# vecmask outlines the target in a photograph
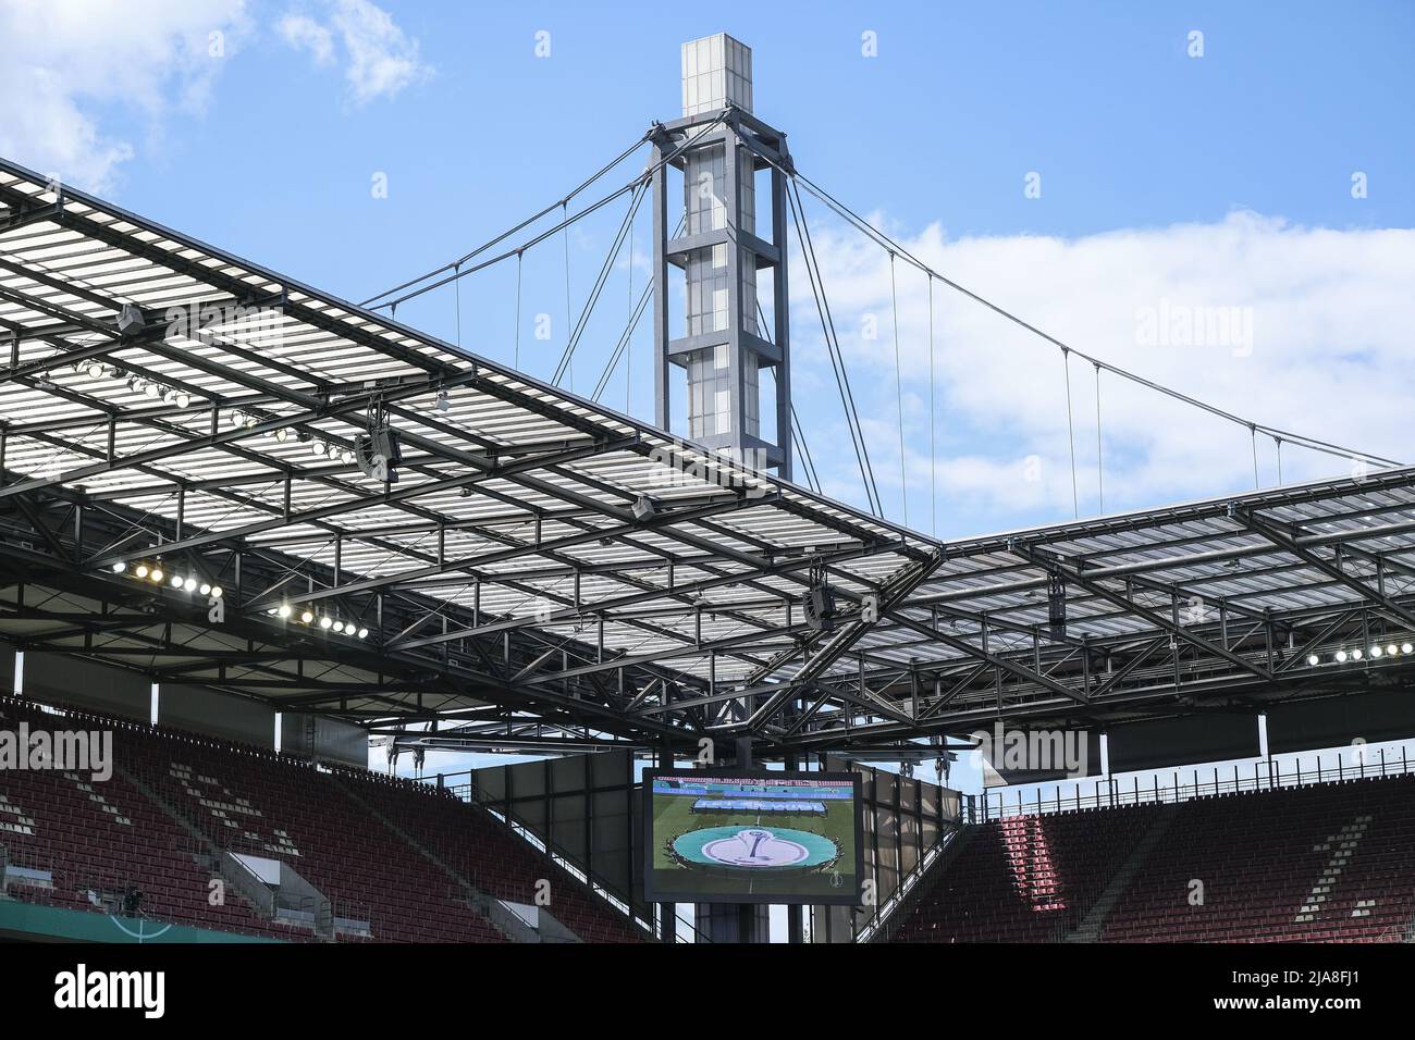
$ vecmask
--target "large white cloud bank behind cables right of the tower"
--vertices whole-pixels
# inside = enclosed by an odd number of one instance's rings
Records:
[[[874,224],[879,226],[879,219]],[[900,518],[889,258],[843,225],[812,221],[887,512]],[[894,233],[891,231],[891,233]],[[896,235],[899,238],[899,235]],[[949,241],[934,225],[903,245],[935,270],[1077,349],[1259,423],[1415,461],[1407,430],[1415,368],[1415,231],[1303,228],[1251,212],[1203,225],[1080,239]],[[896,262],[910,521],[928,529],[928,296]],[[799,259],[792,267],[794,396],[819,440],[841,408]],[[866,335],[873,316],[877,338]],[[1186,328],[1187,318],[1197,324]],[[1203,345],[1203,320],[1235,317]],[[1249,325],[1251,323],[1251,331]],[[1162,330],[1156,335],[1156,328]],[[1213,331],[1225,331],[1218,325]],[[1187,337],[1187,338],[1186,338]],[[1071,463],[1060,351],[934,286],[940,531],[1068,518]],[[1098,511],[1095,372],[1070,365],[1081,515]],[[1248,432],[1102,375],[1105,511],[1252,488]],[[848,449],[843,439],[839,443]],[[816,449],[828,490],[859,501],[849,451]],[[1258,440],[1259,480],[1276,451]],[[1285,483],[1350,463],[1283,447]],[[975,522],[976,521],[976,522]]]

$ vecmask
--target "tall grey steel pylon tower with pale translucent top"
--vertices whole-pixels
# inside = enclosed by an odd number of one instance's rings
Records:
[[[674,369],[686,369],[686,436],[791,478],[785,134],[751,115],[751,50],[724,33],[682,47],[683,115],[655,127],[654,392],[672,432]],[[715,122],[716,120],[716,122]],[[705,129],[708,127],[708,129]],[[778,164],[774,166],[773,163]],[[682,209],[669,181],[682,171]],[[757,233],[757,174],[770,170],[770,239]],[[671,208],[672,202],[672,208]],[[758,321],[758,272],[771,272],[773,328]],[[669,317],[675,282],[683,314]],[[761,369],[775,383],[763,430]],[[768,439],[770,437],[770,439]]]

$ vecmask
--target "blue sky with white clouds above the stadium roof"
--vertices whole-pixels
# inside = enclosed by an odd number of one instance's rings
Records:
[[[18,55],[0,69],[18,113],[0,126],[0,154],[359,300],[481,243],[675,117],[678,45],[716,31],[753,48],[756,110],[790,133],[801,170],[937,269],[1245,417],[1411,461],[1408,3],[0,0],[0,37]],[[866,33],[877,57],[862,54]],[[1029,174],[1040,198],[1024,194]],[[379,177],[386,197],[371,191]],[[906,491],[910,521],[928,531],[937,515],[944,536],[1099,512],[1094,374],[1071,372],[1073,505],[1056,349],[944,290],[930,345],[913,275],[900,282],[900,478],[887,262],[808,212],[889,515],[903,518]],[[528,371],[548,376],[563,347],[562,249],[577,310],[621,215],[611,207],[528,255]],[[642,286],[644,218],[634,269],[617,267],[596,310],[577,389]],[[511,359],[514,294],[507,266],[464,283],[464,345]],[[1139,316],[1160,306],[1235,308],[1251,340],[1143,342]],[[529,338],[538,313],[553,318],[549,342]],[[456,335],[446,290],[399,317]],[[870,317],[877,341],[860,331]],[[862,504],[804,287],[792,323],[816,464],[828,492]],[[640,378],[625,398],[621,369],[607,398],[641,417],[645,334]],[[1105,511],[1252,485],[1244,432],[1118,382],[1102,405]],[[1259,449],[1272,484],[1274,447]],[[1290,449],[1283,463],[1289,483],[1348,471]]]

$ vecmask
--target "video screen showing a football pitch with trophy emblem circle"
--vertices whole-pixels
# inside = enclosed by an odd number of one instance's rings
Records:
[[[859,903],[856,774],[665,770],[644,792],[649,901]]]

